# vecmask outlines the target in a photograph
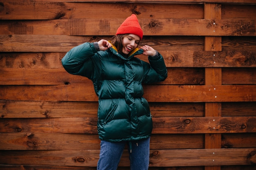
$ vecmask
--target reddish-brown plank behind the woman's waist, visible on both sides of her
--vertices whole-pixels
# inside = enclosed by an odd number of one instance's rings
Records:
[[[0,100],[98,101],[92,82],[0,87]],[[255,102],[256,88],[255,85],[144,85],[144,97],[148,102]]]

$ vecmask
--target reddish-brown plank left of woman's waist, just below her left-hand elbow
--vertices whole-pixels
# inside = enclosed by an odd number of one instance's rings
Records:
[[[1,86],[0,99],[34,101],[98,101],[98,97],[94,92],[93,84],[90,81],[85,82],[84,85],[74,86]]]

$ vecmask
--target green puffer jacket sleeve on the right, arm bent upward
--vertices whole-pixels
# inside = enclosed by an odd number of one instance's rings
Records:
[[[144,84],[153,82],[162,82],[167,77],[167,69],[164,63],[163,56],[157,52],[156,57],[148,56],[150,64],[144,64]]]

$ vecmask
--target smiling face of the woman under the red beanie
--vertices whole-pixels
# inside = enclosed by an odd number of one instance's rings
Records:
[[[122,40],[122,43],[123,43],[122,53],[129,54],[130,51],[132,51],[138,46],[139,36],[134,34],[125,35]]]

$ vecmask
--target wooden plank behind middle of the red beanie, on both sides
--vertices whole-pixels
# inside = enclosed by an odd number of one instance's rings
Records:
[[[0,33],[6,35],[115,35],[123,21],[123,18],[100,20],[85,18],[1,22]],[[256,36],[256,20],[141,18],[139,22],[144,35]],[[92,26],[94,29],[91,29]]]

